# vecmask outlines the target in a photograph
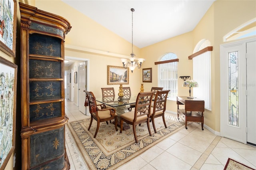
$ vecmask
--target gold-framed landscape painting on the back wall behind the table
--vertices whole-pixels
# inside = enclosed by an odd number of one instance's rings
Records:
[[[129,84],[129,68],[108,65],[108,85]]]

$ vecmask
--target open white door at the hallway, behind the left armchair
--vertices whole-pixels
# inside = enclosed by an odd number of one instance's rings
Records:
[[[86,93],[86,61],[79,64],[78,70],[78,107],[79,110],[86,115],[86,107],[84,106]]]

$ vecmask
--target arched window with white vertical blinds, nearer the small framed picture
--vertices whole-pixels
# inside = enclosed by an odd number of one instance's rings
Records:
[[[158,86],[164,87],[163,90],[170,90],[168,94],[169,100],[176,100],[176,96],[178,95],[177,55],[174,53],[167,53],[162,56],[157,63],[159,64]]]

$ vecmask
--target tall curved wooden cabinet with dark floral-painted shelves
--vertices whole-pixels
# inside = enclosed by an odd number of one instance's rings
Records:
[[[22,170],[70,169],[65,148],[65,18],[19,3]]]

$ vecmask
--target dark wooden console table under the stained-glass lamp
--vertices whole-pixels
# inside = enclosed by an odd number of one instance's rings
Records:
[[[198,98],[187,98],[187,96],[177,96],[177,113],[185,120],[185,127],[187,122],[200,122],[202,130],[204,130],[204,100]],[[179,109],[179,105],[184,105],[185,109]]]

